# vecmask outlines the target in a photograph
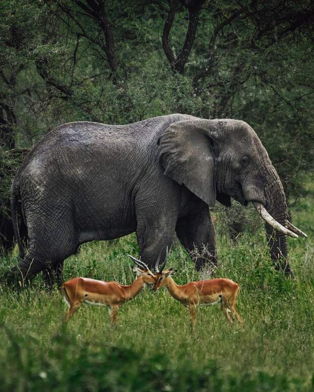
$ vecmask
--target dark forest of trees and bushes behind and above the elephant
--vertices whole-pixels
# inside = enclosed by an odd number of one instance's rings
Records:
[[[12,178],[28,149],[65,122],[128,124],[175,112],[244,120],[289,203],[306,194],[312,1],[10,0],[0,10],[3,246]]]

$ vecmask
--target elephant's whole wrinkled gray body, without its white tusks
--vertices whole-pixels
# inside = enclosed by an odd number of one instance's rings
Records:
[[[263,204],[285,224],[283,186],[253,129],[243,121],[172,114],[124,126],[77,122],[49,132],[23,162],[12,188],[20,199],[29,249],[6,279],[43,271],[61,282],[63,260],[82,243],[136,231],[141,260],[152,267],[174,233],[198,269],[216,264],[209,207],[230,197]],[[16,228],[15,228],[16,229]],[[282,233],[267,229],[274,261],[287,256]],[[281,267],[290,272],[285,258]],[[276,263],[277,267],[279,263]]]

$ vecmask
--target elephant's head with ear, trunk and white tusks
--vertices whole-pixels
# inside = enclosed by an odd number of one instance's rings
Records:
[[[216,200],[230,206],[230,197],[245,206],[252,202],[267,222],[273,260],[287,257],[285,235],[304,234],[287,221],[280,178],[247,123],[197,118],[180,121],[161,136],[160,148],[165,174],[183,183],[209,207],[214,207]]]

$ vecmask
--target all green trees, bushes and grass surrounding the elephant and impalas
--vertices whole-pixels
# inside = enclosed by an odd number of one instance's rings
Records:
[[[314,6],[310,0],[10,0],[0,4],[0,240],[10,231],[10,184],[28,148],[55,126],[127,124],[174,112],[248,122],[265,145],[307,242],[290,241],[296,280],[271,267],[250,209],[217,208],[221,267],[241,285],[245,330],[203,308],[194,337],[186,309],[144,290],[112,330],[85,307],[67,329],[41,277],[1,288],[0,381],[6,390],[314,390]],[[227,227],[245,232],[236,244]],[[228,223],[228,225],[226,225]],[[241,229],[242,227],[240,227]],[[65,264],[131,282],[135,238],[85,245]],[[4,252],[5,254],[7,252]],[[1,271],[17,255],[1,258]],[[178,282],[198,279],[176,244]],[[208,271],[203,271],[207,276]]]

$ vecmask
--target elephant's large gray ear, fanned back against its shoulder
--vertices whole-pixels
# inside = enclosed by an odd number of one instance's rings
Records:
[[[180,121],[166,129],[159,144],[164,174],[214,207],[215,162],[208,132],[202,132],[193,121]]]

